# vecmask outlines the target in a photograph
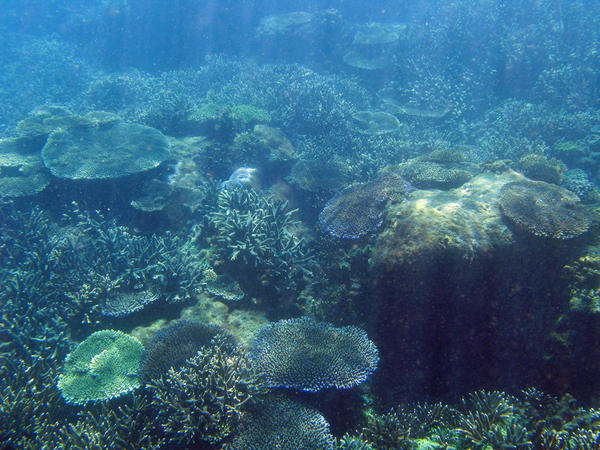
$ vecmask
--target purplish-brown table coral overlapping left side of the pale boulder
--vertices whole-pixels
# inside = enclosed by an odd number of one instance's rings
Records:
[[[405,196],[412,186],[391,172],[374,181],[347,187],[335,194],[319,214],[327,233],[343,239],[357,239],[383,224],[383,210],[392,196]]]

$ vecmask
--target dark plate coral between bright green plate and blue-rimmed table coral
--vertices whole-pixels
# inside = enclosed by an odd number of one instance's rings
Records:
[[[218,342],[217,342],[218,341]],[[224,350],[235,348],[235,339],[217,325],[178,320],[156,333],[146,345],[140,377],[147,382],[166,375],[171,367],[183,366],[202,347],[212,344]]]

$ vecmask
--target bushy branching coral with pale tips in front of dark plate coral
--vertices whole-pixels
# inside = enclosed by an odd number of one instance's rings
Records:
[[[156,421],[172,442],[216,444],[237,431],[244,412],[266,388],[239,351],[202,347],[147,388]]]

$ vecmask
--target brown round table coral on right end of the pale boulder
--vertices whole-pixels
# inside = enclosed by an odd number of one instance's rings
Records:
[[[543,181],[508,183],[499,201],[502,213],[517,229],[541,238],[571,239],[592,223],[577,195]]]

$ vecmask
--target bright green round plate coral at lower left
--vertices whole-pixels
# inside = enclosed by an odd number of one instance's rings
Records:
[[[90,335],[67,355],[58,389],[67,403],[81,405],[119,397],[140,386],[144,346],[121,331]]]

